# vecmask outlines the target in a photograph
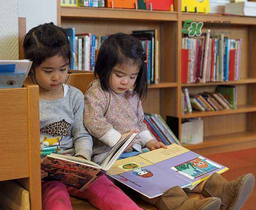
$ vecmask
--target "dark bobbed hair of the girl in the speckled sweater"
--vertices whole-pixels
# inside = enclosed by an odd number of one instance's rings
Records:
[[[133,94],[144,98],[147,95],[146,60],[147,56],[139,39],[125,33],[115,33],[108,36],[102,43],[94,74],[98,75],[102,90],[110,92],[108,81],[115,65],[138,65],[140,69]]]

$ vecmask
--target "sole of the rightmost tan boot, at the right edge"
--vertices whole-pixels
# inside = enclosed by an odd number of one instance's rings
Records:
[[[255,178],[253,174],[244,177],[241,186],[235,194],[235,199],[228,210],[239,210],[253,191]],[[240,196],[239,196],[240,195]]]

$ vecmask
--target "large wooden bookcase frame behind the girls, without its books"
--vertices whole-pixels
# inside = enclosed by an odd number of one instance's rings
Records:
[[[159,84],[149,85],[148,95],[146,100],[142,101],[142,106],[145,112],[161,114],[163,118],[167,115],[178,117],[179,139],[182,119],[202,117],[203,144],[184,145],[185,147],[201,154],[256,147],[256,66],[253,63],[256,55],[256,17],[182,13],[180,0],[174,0],[174,12],[64,7],[59,3],[57,8],[58,24],[64,28],[75,27],[76,33],[90,32],[104,36],[116,32],[131,33],[133,30],[158,30]],[[211,21],[212,31],[229,31],[229,38],[243,39],[240,74],[242,79],[228,82],[181,83],[181,30],[186,19],[196,19],[204,23]],[[214,28],[213,21],[231,21],[231,27]],[[187,87],[189,93],[197,94],[213,92],[216,85],[222,84],[237,86],[238,109],[182,115],[183,88]]]

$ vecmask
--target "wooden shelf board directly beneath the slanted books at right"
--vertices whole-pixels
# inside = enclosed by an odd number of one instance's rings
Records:
[[[217,115],[238,114],[238,113],[246,113],[246,112],[256,112],[256,106],[243,105],[243,106],[238,106],[237,109],[212,111],[212,112],[211,111],[207,111],[207,112],[193,111],[192,113],[182,115],[182,118],[211,117],[211,116],[217,116]]]

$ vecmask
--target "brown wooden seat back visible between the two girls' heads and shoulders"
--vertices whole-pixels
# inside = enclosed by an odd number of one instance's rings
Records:
[[[88,85],[95,79],[93,73],[70,74],[67,80],[68,85],[78,88],[85,93]]]

